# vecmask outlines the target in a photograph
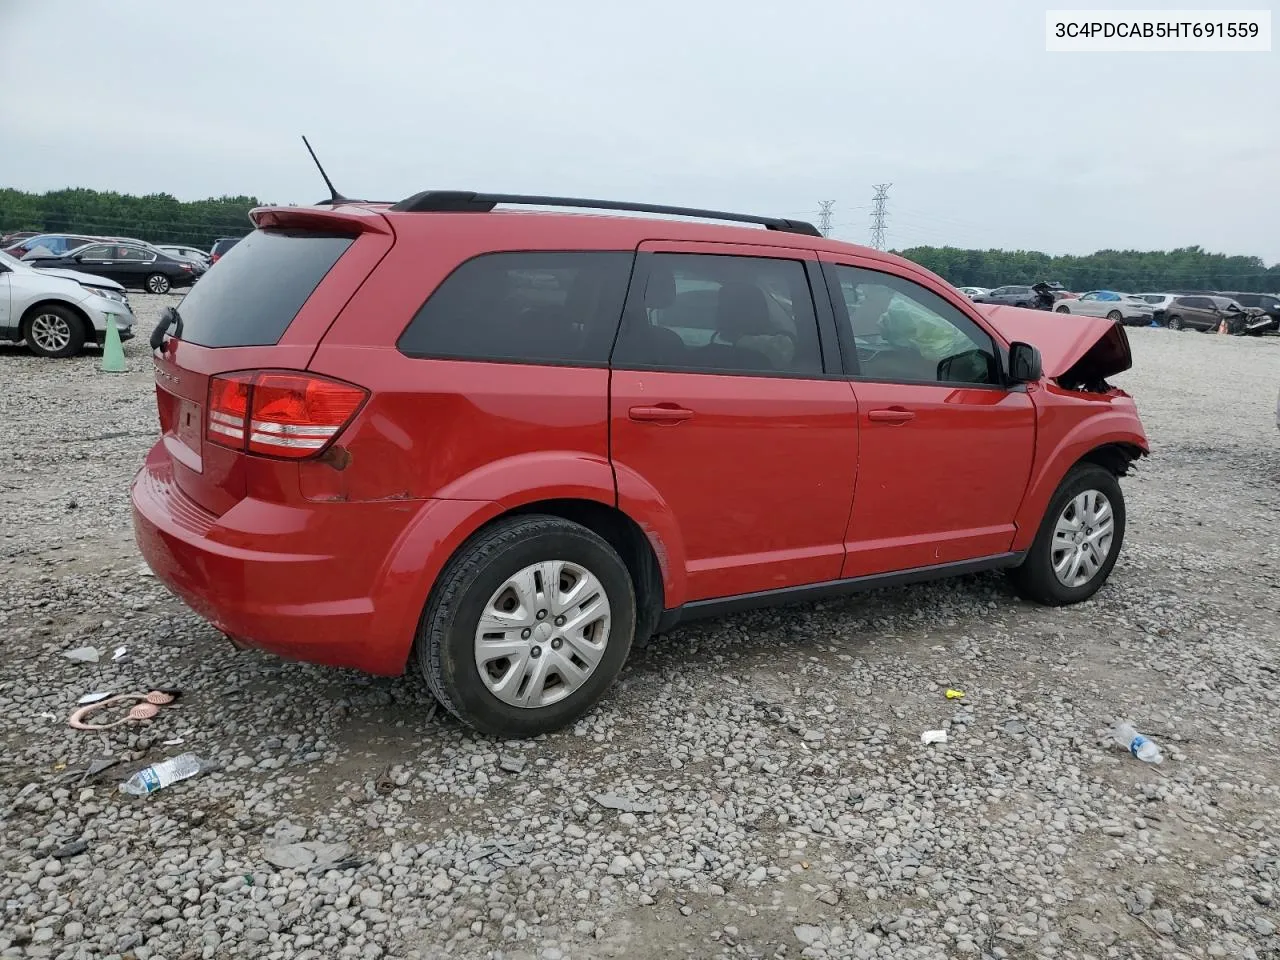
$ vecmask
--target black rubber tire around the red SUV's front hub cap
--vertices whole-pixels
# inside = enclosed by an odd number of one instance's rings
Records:
[[[1053,572],[1053,531],[1068,504],[1087,490],[1101,493],[1111,504],[1115,525],[1111,549],[1087,582],[1079,586],[1068,586]],[[1115,474],[1097,463],[1078,463],[1062,479],[1057,493],[1053,494],[1053,499],[1050,500],[1048,508],[1044,511],[1044,518],[1041,521],[1036,541],[1028,550],[1027,558],[1021,566],[1009,571],[1009,579],[1024,599],[1046,607],[1062,607],[1087,600],[1111,576],[1111,570],[1116,564],[1121,547],[1124,547],[1124,493],[1120,490],[1120,481],[1116,480]]]

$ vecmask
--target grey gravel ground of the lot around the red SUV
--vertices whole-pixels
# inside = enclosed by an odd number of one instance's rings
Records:
[[[145,573],[164,302],[125,375],[0,347],[0,956],[1280,955],[1280,339],[1130,332],[1153,456],[1093,602],[979,576],[712,621],[503,744],[416,678],[237,653]],[[67,726],[157,685],[150,723]],[[188,749],[221,768],[116,792]],[[300,840],[349,854],[269,861]]]

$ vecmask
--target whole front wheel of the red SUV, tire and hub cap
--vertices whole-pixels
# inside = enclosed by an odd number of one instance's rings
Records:
[[[1080,463],[1062,480],[1014,588],[1028,600],[1061,607],[1087,600],[1107,581],[1124,543],[1120,481],[1096,463]]]

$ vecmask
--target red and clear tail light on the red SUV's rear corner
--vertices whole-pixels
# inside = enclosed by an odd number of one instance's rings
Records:
[[[205,434],[220,447],[303,460],[333,443],[367,397],[364,388],[311,374],[215,376]]]

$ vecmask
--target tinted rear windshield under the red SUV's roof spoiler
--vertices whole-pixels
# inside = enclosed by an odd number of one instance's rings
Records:
[[[200,278],[182,301],[182,339],[201,347],[268,347],[355,237],[256,230]]]

